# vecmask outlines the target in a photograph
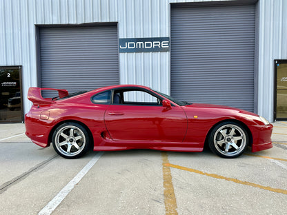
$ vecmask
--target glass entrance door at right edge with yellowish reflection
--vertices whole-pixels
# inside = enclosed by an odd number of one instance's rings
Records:
[[[275,119],[287,120],[287,60],[275,61]]]

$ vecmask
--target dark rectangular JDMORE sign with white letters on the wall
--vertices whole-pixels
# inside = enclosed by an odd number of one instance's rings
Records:
[[[168,52],[169,37],[119,39],[119,52]]]

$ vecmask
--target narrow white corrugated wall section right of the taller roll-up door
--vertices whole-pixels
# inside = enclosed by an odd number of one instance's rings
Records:
[[[259,1],[258,114],[273,121],[274,60],[287,59],[287,1]]]

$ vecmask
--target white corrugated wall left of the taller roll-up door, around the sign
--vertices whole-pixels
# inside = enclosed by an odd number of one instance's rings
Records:
[[[23,65],[24,112],[37,86],[35,25],[118,22],[119,38],[169,37],[165,0],[0,0],[0,65]],[[119,54],[120,83],[170,91],[170,53]]]

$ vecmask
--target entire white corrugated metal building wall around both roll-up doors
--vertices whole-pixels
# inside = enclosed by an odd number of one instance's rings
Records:
[[[174,0],[1,0],[0,65],[23,65],[23,95],[37,86],[36,27],[117,22],[119,38],[170,37]],[[287,1],[259,0],[258,113],[273,120],[273,60],[287,59]],[[170,93],[170,52],[119,53],[120,83]],[[244,101],[242,101],[244,102]],[[24,100],[24,112],[31,103]]]

